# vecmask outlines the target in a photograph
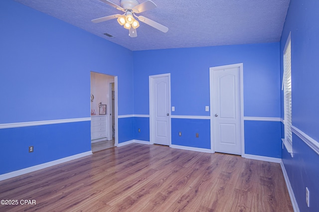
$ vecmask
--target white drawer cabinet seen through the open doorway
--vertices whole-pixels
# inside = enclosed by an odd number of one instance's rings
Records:
[[[91,140],[107,138],[107,129],[106,115],[91,116]]]

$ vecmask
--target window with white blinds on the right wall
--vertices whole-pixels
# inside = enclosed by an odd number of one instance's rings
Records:
[[[285,145],[292,145],[292,112],[291,112],[291,37],[289,34],[285,49],[284,49],[284,76],[283,76],[283,89],[284,89],[284,112],[285,112]],[[287,146],[286,146],[287,147]],[[287,148],[287,150],[289,150]],[[292,149],[291,149],[292,150]]]

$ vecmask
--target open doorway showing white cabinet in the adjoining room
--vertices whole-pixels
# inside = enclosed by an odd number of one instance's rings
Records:
[[[115,147],[116,77],[91,72],[91,150]]]

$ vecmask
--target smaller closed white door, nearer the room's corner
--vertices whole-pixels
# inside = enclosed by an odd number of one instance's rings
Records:
[[[150,76],[151,144],[170,145],[169,74]]]

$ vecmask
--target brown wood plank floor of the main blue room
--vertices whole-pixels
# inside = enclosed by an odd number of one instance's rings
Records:
[[[280,164],[129,144],[0,181],[0,212],[292,212]]]

